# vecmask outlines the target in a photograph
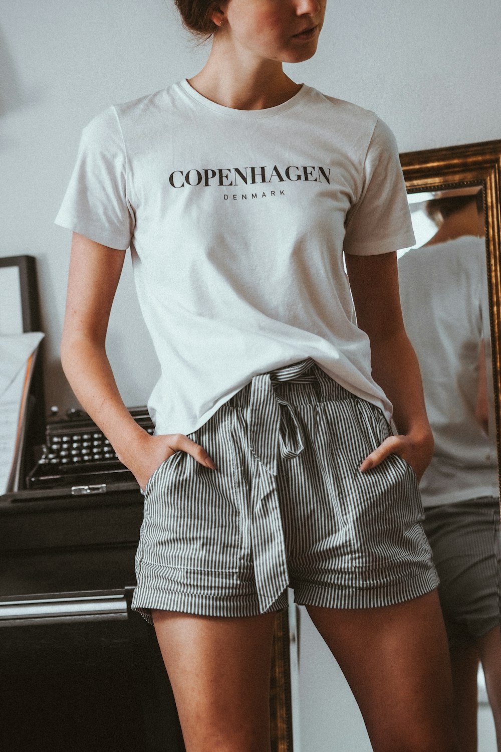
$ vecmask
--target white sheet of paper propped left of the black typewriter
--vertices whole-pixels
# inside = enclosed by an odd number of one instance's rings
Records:
[[[0,494],[8,490],[20,437],[29,357],[43,338],[41,332],[0,337]]]

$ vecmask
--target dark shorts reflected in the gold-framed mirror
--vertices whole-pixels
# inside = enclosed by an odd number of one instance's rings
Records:
[[[427,507],[424,514],[449,644],[471,643],[499,626],[499,499]]]

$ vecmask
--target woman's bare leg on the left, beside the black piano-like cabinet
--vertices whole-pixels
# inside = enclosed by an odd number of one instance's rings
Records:
[[[152,617],[186,752],[269,752],[275,614]]]

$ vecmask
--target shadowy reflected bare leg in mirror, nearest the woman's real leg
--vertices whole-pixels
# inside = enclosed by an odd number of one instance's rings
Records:
[[[478,747],[478,660],[475,645],[451,648],[454,727],[461,752],[477,752]]]

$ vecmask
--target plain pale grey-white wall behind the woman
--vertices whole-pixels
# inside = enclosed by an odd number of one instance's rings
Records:
[[[317,56],[289,73],[376,110],[402,151],[501,138],[499,29],[499,0],[331,0]],[[53,218],[80,130],[112,102],[194,74],[204,56],[171,0],[0,0],[0,255],[38,257],[49,405],[75,404],[59,364],[70,238]],[[128,266],[109,344],[125,402],[146,402],[157,365]],[[364,752],[358,711],[306,625],[303,752]],[[337,746],[334,715],[336,733],[355,724]]]

